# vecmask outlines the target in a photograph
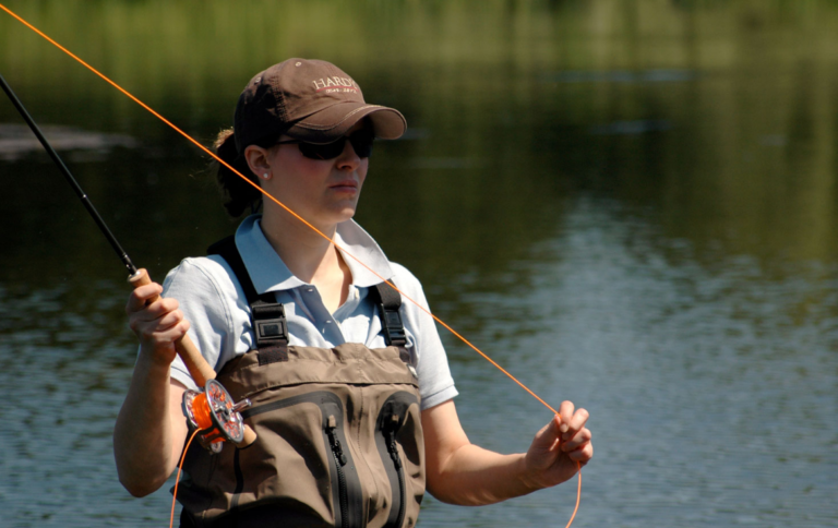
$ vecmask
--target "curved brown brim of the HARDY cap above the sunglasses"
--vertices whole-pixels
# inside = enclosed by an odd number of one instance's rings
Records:
[[[396,140],[407,130],[405,117],[394,108],[338,103],[297,121],[286,134],[307,143],[332,143],[367,117],[372,121],[375,137],[382,140]]]

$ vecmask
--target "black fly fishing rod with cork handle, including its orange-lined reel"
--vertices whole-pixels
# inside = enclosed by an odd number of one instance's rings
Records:
[[[9,86],[9,83],[5,82],[2,74],[0,74],[0,87],[3,88],[3,92],[5,92],[5,95],[9,96],[12,105],[14,105],[14,108],[21,117],[23,117],[24,121],[26,121],[26,124],[29,125],[29,129],[32,129],[40,144],[44,145],[49,157],[52,158],[61,170],[64,179],[70,183],[70,187],[73,188],[73,191],[82,201],[82,204],[84,204],[87,213],[89,213],[91,217],[93,217],[93,220],[96,223],[96,226],[98,226],[101,233],[108,240],[108,243],[110,243],[110,247],[116,251],[117,256],[119,256],[119,260],[129,272],[128,281],[131,286],[136,289],[141,286],[152,284],[148,272],[142,268],[137,269],[131,261],[131,257],[128,256],[125,250],[122,249],[122,245],[120,245],[107,224],[105,224],[101,215],[96,211],[93,202],[87,197],[87,194],[73,177],[73,173],[70,172],[70,169],[67,168],[61,156],[59,156],[56,149],[52,148],[52,145],[49,144],[49,141],[47,141],[47,137],[40,131],[38,124],[32,118],[29,112],[26,111],[23,103],[17,98],[17,95],[12,87]],[[146,304],[151,304],[157,299],[159,299],[159,296],[154,296],[146,301]],[[189,389],[183,393],[183,413],[192,429],[206,431],[201,435],[204,445],[213,453],[218,453],[222,449],[222,443],[225,441],[235,444],[237,447],[246,447],[252,444],[253,441],[256,440],[256,434],[249,425],[244,424],[243,419],[239,413],[239,410],[250,405],[250,400],[243,399],[238,404],[232,400],[232,397],[227,389],[215,380],[215,371],[210,363],[206,362],[206,359],[204,359],[197,350],[197,347],[192,343],[189,335],[184,335],[175,341],[175,349],[187,365],[192,379],[199,387],[203,387],[202,391]]]

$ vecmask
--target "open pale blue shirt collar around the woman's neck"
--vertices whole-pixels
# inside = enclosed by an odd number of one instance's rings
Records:
[[[308,285],[294,276],[262,232],[262,215],[251,215],[236,231],[236,247],[244,261],[250,279],[259,295]],[[366,288],[391,279],[393,269],[379,244],[355,220],[337,225],[335,242],[340,247],[352,285]],[[351,255],[351,256],[350,256]],[[352,259],[355,256],[357,261]],[[360,262],[358,262],[360,261]],[[363,263],[363,264],[361,264]],[[369,268],[367,267],[369,266]],[[381,277],[376,276],[380,275]]]

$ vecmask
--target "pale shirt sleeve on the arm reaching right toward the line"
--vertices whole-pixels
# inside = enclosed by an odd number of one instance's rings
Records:
[[[405,326],[410,329],[416,339],[416,372],[419,377],[419,393],[422,396],[421,407],[422,410],[430,409],[454,398],[458,393],[451,375],[445,348],[436,332],[436,323],[424,311],[430,312],[430,309],[422,285],[404,266],[395,263],[391,263],[391,266],[395,272],[394,281],[404,292],[403,297],[410,298],[404,299],[402,303]]]

